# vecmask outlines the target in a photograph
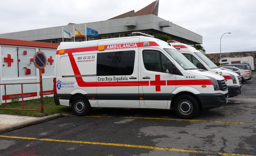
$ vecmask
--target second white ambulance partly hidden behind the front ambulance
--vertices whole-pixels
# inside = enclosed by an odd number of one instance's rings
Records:
[[[222,75],[227,81],[229,97],[241,94],[242,83],[237,73],[217,67],[210,59],[193,46],[177,42],[170,42],[170,45],[181,52],[196,67]]]

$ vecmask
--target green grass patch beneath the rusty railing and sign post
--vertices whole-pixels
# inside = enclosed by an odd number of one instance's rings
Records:
[[[41,110],[41,99],[32,99],[23,101],[24,109],[30,110]],[[71,107],[55,105],[53,97],[45,96],[43,98],[44,103],[44,113],[48,115],[62,113],[70,111]],[[10,103],[7,103],[7,108],[11,109],[22,109],[22,102],[17,99],[12,99]],[[0,108],[5,108],[5,103],[0,105]],[[0,110],[0,114],[9,114],[9,115],[21,115],[21,116],[31,116],[35,117],[36,114],[41,113],[39,111],[18,111],[18,110]]]

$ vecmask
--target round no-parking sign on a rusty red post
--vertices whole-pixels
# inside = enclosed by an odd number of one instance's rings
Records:
[[[46,66],[47,62],[45,54],[41,51],[36,52],[36,54],[33,56],[33,62],[34,65],[39,69],[41,113],[44,113],[42,69]]]

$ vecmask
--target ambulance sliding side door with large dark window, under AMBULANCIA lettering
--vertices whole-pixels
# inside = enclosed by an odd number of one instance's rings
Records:
[[[103,107],[140,107],[138,89],[138,39],[99,41],[97,101]],[[118,43],[118,44],[117,44]],[[127,46],[132,46],[125,48]]]

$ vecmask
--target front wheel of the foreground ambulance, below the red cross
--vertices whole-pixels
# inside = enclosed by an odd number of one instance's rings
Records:
[[[182,119],[191,119],[199,114],[199,103],[191,95],[181,95],[174,102],[174,112]]]

